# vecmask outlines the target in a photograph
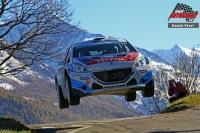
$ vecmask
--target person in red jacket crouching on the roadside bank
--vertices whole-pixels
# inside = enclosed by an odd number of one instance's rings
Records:
[[[190,93],[181,82],[176,83],[174,79],[171,79],[169,80],[168,95],[172,96],[169,99],[169,102],[172,103],[173,101],[178,100],[179,98],[189,96]]]

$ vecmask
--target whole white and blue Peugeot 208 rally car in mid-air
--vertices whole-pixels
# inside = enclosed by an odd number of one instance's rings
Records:
[[[55,75],[60,108],[79,105],[80,98],[121,95],[126,101],[154,95],[151,61],[127,40],[98,37],[77,42],[66,50]]]

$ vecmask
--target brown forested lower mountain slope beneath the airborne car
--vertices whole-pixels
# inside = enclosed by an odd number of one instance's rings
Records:
[[[121,118],[138,115],[142,115],[142,113],[109,96],[83,98],[80,106],[61,110],[51,101],[18,96],[0,88],[0,116],[12,117],[26,124]]]

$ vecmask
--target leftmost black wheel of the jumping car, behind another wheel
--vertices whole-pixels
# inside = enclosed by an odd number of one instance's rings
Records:
[[[58,106],[60,109],[68,108],[69,102],[68,99],[65,99],[62,93],[62,88],[56,83],[56,91],[58,97]]]

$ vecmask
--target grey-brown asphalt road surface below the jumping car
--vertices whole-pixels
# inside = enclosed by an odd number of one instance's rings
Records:
[[[200,107],[160,115],[30,127],[38,133],[200,133]]]

